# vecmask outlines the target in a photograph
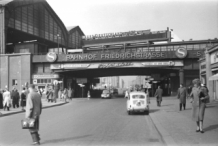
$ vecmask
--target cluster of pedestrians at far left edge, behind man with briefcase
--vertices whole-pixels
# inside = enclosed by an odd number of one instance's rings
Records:
[[[16,88],[13,88],[11,92],[7,88],[4,90],[0,89],[0,109],[7,109],[9,111],[12,106],[13,108],[19,108],[21,106],[22,110],[24,110],[26,106],[26,95],[25,88],[23,88],[21,94],[19,94]]]

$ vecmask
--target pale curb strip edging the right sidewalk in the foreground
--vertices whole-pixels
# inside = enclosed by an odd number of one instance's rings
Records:
[[[178,144],[174,141],[173,137],[167,132],[161,123],[158,121],[155,115],[150,114],[151,120],[154,123],[157,131],[161,134],[163,141],[167,146],[178,146]]]

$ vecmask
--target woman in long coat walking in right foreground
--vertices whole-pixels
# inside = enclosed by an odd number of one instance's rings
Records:
[[[201,86],[199,79],[194,79],[194,87],[190,97],[192,99],[192,120],[197,123],[196,132],[204,133],[203,131],[203,120],[205,113],[206,100],[209,98],[207,89]]]

